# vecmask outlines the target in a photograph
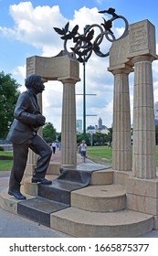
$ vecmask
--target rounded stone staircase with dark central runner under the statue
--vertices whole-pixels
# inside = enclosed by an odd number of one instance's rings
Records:
[[[93,165],[92,171],[91,167],[79,165],[80,177],[79,170],[73,168],[70,175],[64,170],[64,179],[58,180],[59,173],[49,174],[52,186],[32,184],[28,176],[23,187],[26,200],[17,201],[3,191],[0,205],[72,237],[127,238],[151,231],[152,215],[126,208],[125,179],[131,173],[114,172],[105,165]],[[77,182],[69,178],[72,171],[78,172]],[[87,179],[89,184],[83,184]]]

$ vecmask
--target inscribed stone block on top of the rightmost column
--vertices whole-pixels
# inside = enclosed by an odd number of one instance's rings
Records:
[[[150,55],[157,59],[155,44],[155,27],[148,20],[131,24],[129,27],[128,59],[140,55]]]

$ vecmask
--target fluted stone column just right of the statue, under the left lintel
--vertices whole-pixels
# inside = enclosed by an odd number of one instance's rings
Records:
[[[61,164],[77,164],[76,139],[76,99],[77,80],[61,80],[63,83],[62,124],[61,124]]]

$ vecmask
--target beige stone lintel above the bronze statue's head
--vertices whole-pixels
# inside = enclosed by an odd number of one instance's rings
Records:
[[[26,59],[26,77],[39,74],[44,80],[79,80],[79,62],[68,55],[60,57],[33,56]],[[59,79],[58,79],[59,78]]]

